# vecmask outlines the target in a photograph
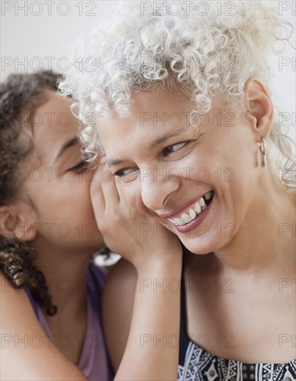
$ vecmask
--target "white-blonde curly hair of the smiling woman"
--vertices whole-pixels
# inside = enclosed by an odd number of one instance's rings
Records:
[[[213,105],[244,107],[249,78],[270,92],[268,51],[289,42],[292,24],[261,1],[227,1],[232,9],[223,1],[219,9],[216,3],[121,1],[115,17],[73,46],[59,93],[74,99],[72,111],[82,122],[80,142],[89,162],[103,150],[94,115],[112,107],[124,117],[134,92],[163,87],[193,100],[195,113],[207,113]],[[266,142],[274,174],[280,168],[288,173],[281,179],[287,190],[295,188],[290,127],[275,118]]]

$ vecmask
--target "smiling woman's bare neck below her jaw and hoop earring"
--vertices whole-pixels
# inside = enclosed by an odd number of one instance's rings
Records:
[[[214,255],[221,271],[287,274],[295,269],[295,193],[268,172],[236,235]]]

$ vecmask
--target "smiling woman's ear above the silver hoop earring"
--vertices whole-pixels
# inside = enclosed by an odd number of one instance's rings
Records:
[[[245,82],[245,105],[257,141],[261,141],[261,136],[267,139],[272,130],[274,113],[268,92],[259,80],[250,78]]]

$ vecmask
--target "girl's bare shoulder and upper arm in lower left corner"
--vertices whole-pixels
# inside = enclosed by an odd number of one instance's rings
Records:
[[[58,348],[51,345],[24,290],[16,290],[0,271],[2,380],[86,380]],[[37,348],[37,350],[36,350]],[[46,367],[36,366],[43,364]]]

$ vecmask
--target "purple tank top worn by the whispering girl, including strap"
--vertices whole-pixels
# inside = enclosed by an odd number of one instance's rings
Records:
[[[78,369],[90,381],[112,381],[114,377],[107,356],[101,317],[101,294],[105,276],[105,272],[101,267],[93,264],[89,265],[87,272],[87,332],[85,341],[82,344]],[[42,326],[46,335],[51,337],[49,326],[41,308],[33,299],[30,290],[26,289],[26,293],[40,326]]]

